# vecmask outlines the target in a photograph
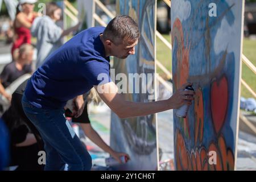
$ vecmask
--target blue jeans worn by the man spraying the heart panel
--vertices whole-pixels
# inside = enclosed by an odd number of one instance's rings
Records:
[[[64,109],[40,109],[31,105],[23,94],[22,107],[38,129],[46,150],[46,171],[84,171],[92,168],[92,158],[64,117]]]

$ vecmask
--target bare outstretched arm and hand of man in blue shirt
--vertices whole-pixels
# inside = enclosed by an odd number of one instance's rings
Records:
[[[195,92],[183,91],[183,89],[191,84],[184,84],[176,93],[168,100],[155,102],[131,102],[126,101],[121,94],[118,93],[118,88],[114,82],[109,82],[104,85],[94,86],[102,100],[118,115],[119,118],[138,117],[142,115],[159,113],[161,111],[176,109],[183,104],[191,105],[194,99]],[[111,91],[111,92],[110,92]],[[185,96],[185,95],[191,96]],[[185,100],[185,98],[187,100]]]

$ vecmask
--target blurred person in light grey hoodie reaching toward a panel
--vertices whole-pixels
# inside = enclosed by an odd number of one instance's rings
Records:
[[[56,22],[61,19],[61,15],[61,8],[56,3],[50,2],[46,5],[46,16],[38,17],[32,23],[31,33],[32,36],[37,38],[36,49],[38,50],[38,56],[36,68],[43,64],[48,55],[62,46],[61,38],[79,28],[80,23],[67,30],[62,30],[56,25]]]

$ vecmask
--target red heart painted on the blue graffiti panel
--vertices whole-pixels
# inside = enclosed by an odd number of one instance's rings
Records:
[[[210,107],[214,129],[218,133],[224,125],[226,111],[228,109],[228,80],[225,76],[220,80],[212,82]]]

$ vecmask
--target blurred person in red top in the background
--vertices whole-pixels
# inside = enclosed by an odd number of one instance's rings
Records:
[[[34,3],[36,1],[37,0],[19,1],[18,7],[21,7],[21,11],[17,11],[16,18],[14,20],[15,38],[13,47],[11,48],[11,55],[13,55],[14,50],[22,46],[22,44],[31,44],[30,28],[33,20],[39,15],[34,11]]]

